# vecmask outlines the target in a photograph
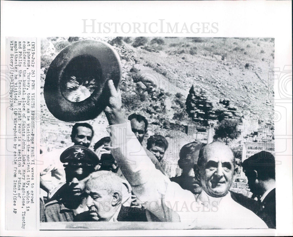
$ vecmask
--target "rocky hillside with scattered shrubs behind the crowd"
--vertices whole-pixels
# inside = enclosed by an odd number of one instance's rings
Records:
[[[51,61],[59,51],[71,42],[83,39],[54,37],[42,40],[42,83]],[[236,120],[240,135],[235,139],[225,139],[235,151],[242,149],[243,141],[273,140],[273,101],[270,100],[273,82],[268,78],[274,62],[273,39],[86,39],[108,42],[120,55],[120,89],[124,107],[127,114],[136,112],[147,117],[149,135],[160,133],[168,139],[170,146],[163,165],[170,176],[180,174],[176,164],[182,145],[195,139],[206,142],[208,123],[201,123],[196,120],[198,118],[207,116],[210,119],[214,115],[214,119],[210,120],[215,124],[215,129],[222,119]],[[208,108],[206,112],[195,108],[192,110],[195,111],[193,116],[186,112],[185,104],[192,86],[197,107],[204,102],[205,108]],[[70,144],[72,123],[55,119],[47,110],[43,97],[41,114],[41,143],[46,144],[45,149]],[[90,123],[100,128],[94,142],[107,135],[107,122],[103,115]]]

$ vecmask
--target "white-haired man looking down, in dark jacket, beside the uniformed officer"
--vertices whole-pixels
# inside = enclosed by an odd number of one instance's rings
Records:
[[[88,211],[74,221],[147,221],[145,210],[122,205],[122,182],[110,171],[98,171],[86,181]]]

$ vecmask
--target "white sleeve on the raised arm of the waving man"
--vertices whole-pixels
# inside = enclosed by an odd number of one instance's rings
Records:
[[[157,170],[131,131],[130,123],[112,125],[113,156],[138,199],[160,221],[194,221],[195,197]]]

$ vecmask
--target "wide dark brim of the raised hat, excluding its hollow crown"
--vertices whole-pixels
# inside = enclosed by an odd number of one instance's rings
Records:
[[[101,70],[99,86],[85,100],[71,102],[62,95],[60,80],[66,66],[78,56],[91,56],[98,60]],[[94,119],[107,106],[110,95],[106,82],[113,80],[117,89],[120,78],[120,57],[109,44],[95,40],[75,42],[64,48],[50,64],[44,85],[46,105],[53,116],[62,121]]]

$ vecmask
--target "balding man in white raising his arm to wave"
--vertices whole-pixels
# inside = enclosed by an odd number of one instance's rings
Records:
[[[234,175],[234,157],[223,143],[214,142],[201,150],[198,174],[203,193],[197,199],[188,190],[171,182],[147,157],[129,121],[121,110],[121,96],[108,82],[110,99],[106,114],[113,141],[113,157],[132,186],[134,194],[148,210],[148,220],[181,221],[198,229],[266,229],[253,212],[234,202],[229,194]]]

